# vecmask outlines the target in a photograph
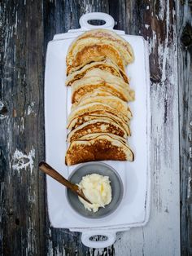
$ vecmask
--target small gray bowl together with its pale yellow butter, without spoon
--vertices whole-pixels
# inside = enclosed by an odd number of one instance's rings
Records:
[[[69,205],[85,218],[103,218],[117,210],[124,188],[120,175],[103,162],[88,162],[77,166],[68,180],[80,186],[89,204],[67,189]]]

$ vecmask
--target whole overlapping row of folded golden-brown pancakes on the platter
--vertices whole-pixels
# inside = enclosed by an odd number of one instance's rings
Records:
[[[132,47],[116,33],[94,29],[68,49],[66,86],[72,86],[66,165],[85,161],[133,161],[127,139],[134,99],[125,66]]]

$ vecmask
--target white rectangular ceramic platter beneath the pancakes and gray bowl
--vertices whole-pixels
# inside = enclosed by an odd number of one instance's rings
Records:
[[[103,15],[103,14],[102,14]],[[86,16],[86,15],[85,15]],[[92,15],[93,16],[93,15]],[[82,20],[82,18],[81,18]],[[91,20],[91,18],[89,18]],[[102,16],[99,20],[107,20]],[[111,26],[111,25],[110,25]],[[112,27],[107,29],[112,29]],[[67,150],[67,119],[71,108],[71,88],[64,86],[66,79],[66,55],[68,46],[83,31],[92,29],[81,24],[81,29],[56,35],[46,52],[45,75],[45,121],[46,161],[68,178],[76,166],[65,166]],[[47,177],[47,196],[50,223],[53,227],[70,228],[79,232],[98,230],[119,231],[143,226],[149,217],[150,170],[149,170],[149,68],[146,42],[142,37],[120,35],[133,46],[135,60],[127,68],[130,86],[135,90],[136,100],[129,106],[133,112],[132,136],[129,145],[133,148],[135,161],[104,161],[115,168],[124,183],[124,198],[114,214],[101,219],[83,218],[68,205],[65,188]],[[95,246],[93,246],[95,247]]]

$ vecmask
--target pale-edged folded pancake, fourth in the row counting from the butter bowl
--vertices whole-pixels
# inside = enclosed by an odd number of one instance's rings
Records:
[[[115,108],[111,108],[107,104],[93,102],[90,104],[79,106],[72,110],[72,112],[68,116],[68,123],[70,123],[75,117],[89,115],[90,113],[95,113],[97,111],[103,112],[106,116],[107,113],[111,113],[116,117],[120,117],[120,119],[122,119],[124,122],[128,122],[132,118],[131,113],[129,113],[128,116],[125,116],[123,113],[118,112]]]

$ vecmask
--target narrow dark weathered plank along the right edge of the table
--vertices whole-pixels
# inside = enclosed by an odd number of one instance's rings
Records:
[[[177,7],[180,168],[181,254],[192,255],[192,2]]]

